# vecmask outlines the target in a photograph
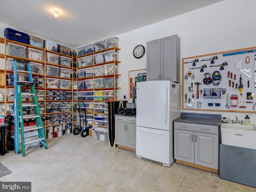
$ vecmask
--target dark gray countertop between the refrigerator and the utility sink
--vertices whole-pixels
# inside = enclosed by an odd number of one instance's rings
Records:
[[[182,113],[181,116],[174,119],[173,122],[184,122],[184,123],[195,123],[195,124],[220,126],[221,115]]]

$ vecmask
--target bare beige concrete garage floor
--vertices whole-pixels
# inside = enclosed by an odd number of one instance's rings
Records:
[[[89,136],[69,134],[48,146],[30,147],[26,157],[14,151],[0,156],[12,171],[0,181],[32,182],[32,192],[256,192],[214,172],[138,159],[134,151]]]

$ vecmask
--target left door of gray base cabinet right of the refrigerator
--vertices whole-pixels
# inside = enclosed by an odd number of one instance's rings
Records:
[[[174,159],[194,163],[194,132],[174,129]]]

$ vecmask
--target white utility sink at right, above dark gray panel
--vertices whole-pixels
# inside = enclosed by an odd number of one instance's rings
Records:
[[[256,149],[256,129],[254,124],[222,123],[220,131],[222,144]]]

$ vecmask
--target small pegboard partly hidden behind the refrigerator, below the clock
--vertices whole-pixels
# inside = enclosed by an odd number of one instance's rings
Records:
[[[136,99],[136,78],[139,73],[146,73],[146,69],[132,70],[129,71],[129,102],[134,102]]]

